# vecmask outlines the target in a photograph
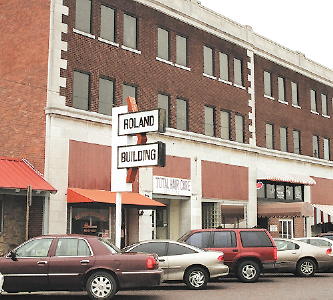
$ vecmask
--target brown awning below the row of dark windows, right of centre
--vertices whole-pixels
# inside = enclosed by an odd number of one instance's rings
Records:
[[[312,217],[313,208],[310,203],[307,202],[294,202],[294,203],[260,203],[258,204],[258,216],[259,217],[292,217],[303,216]]]

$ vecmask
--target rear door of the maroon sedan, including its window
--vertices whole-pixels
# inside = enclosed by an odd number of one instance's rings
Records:
[[[88,241],[84,238],[58,238],[49,263],[51,290],[79,290],[81,278],[95,263]]]

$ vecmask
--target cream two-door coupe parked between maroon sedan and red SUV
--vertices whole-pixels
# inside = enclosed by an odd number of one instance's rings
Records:
[[[229,274],[222,252],[208,252],[176,241],[144,241],[123,250],[156,253],[164,271],[163,281],[183,281],[190,289],[204,289],[210,278]]]

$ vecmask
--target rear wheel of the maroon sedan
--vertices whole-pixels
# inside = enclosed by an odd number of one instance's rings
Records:
[[[111,299],[118,291],[117,282],[107,272],[95,272],[87,280],[86,289],[90,299]]]

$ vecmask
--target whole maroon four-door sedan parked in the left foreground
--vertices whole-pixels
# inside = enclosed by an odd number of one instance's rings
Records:
[[[33,238],[0,258],[0,272],[6,292],[86,289],[91,299],[159,285],[162,275],[156,256],[120,253],[108,241],[86,235]]]

